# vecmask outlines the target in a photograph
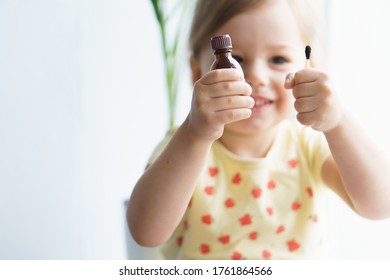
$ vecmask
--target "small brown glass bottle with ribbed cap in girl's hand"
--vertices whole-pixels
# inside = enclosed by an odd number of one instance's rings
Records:
[[[243,73],[241,65],[232,57],[232,39],[228,34],[211,38],[211,48],[213,49],[215,60],[210,70],[234,68]]]

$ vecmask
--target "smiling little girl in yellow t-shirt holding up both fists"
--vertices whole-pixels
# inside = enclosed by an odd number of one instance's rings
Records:
[[[329,76],[305,68],[305,46],[318,49],[310,15],[303,0],[198,1],[191,110],[128,205],[139,244],[163,244],[169,259],[314,259],[324,257],[325,189],[364,217],[390,216],[389,164]],[[244,76],[209,71],[221,34]]]

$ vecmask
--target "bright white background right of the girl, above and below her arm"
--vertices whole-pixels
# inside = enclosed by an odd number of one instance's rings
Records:
[[[331,1],[329,38],[331,72],[340,99],[388,156],[389,10],[386,0]],[[363,219],[334,197],[330,210],[332,258],[390,258],[390,220]]]

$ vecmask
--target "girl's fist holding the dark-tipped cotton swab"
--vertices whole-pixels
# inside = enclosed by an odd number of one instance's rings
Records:
[[[326,73],[316,69],[289,73],[284,87],[293,90],[297,120],[301,124],[322,132],[339,124],[341,108]]]

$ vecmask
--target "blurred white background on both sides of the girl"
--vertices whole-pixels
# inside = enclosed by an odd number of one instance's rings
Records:
[[[317,1],[340,97],[390,155],[390,2]],[[166,96],[151,1],[0,0],[0,259],[158,257],[124,203],[168,129]],[[329,210],[330,258],[390,259],[389,220],[332,194]]]

